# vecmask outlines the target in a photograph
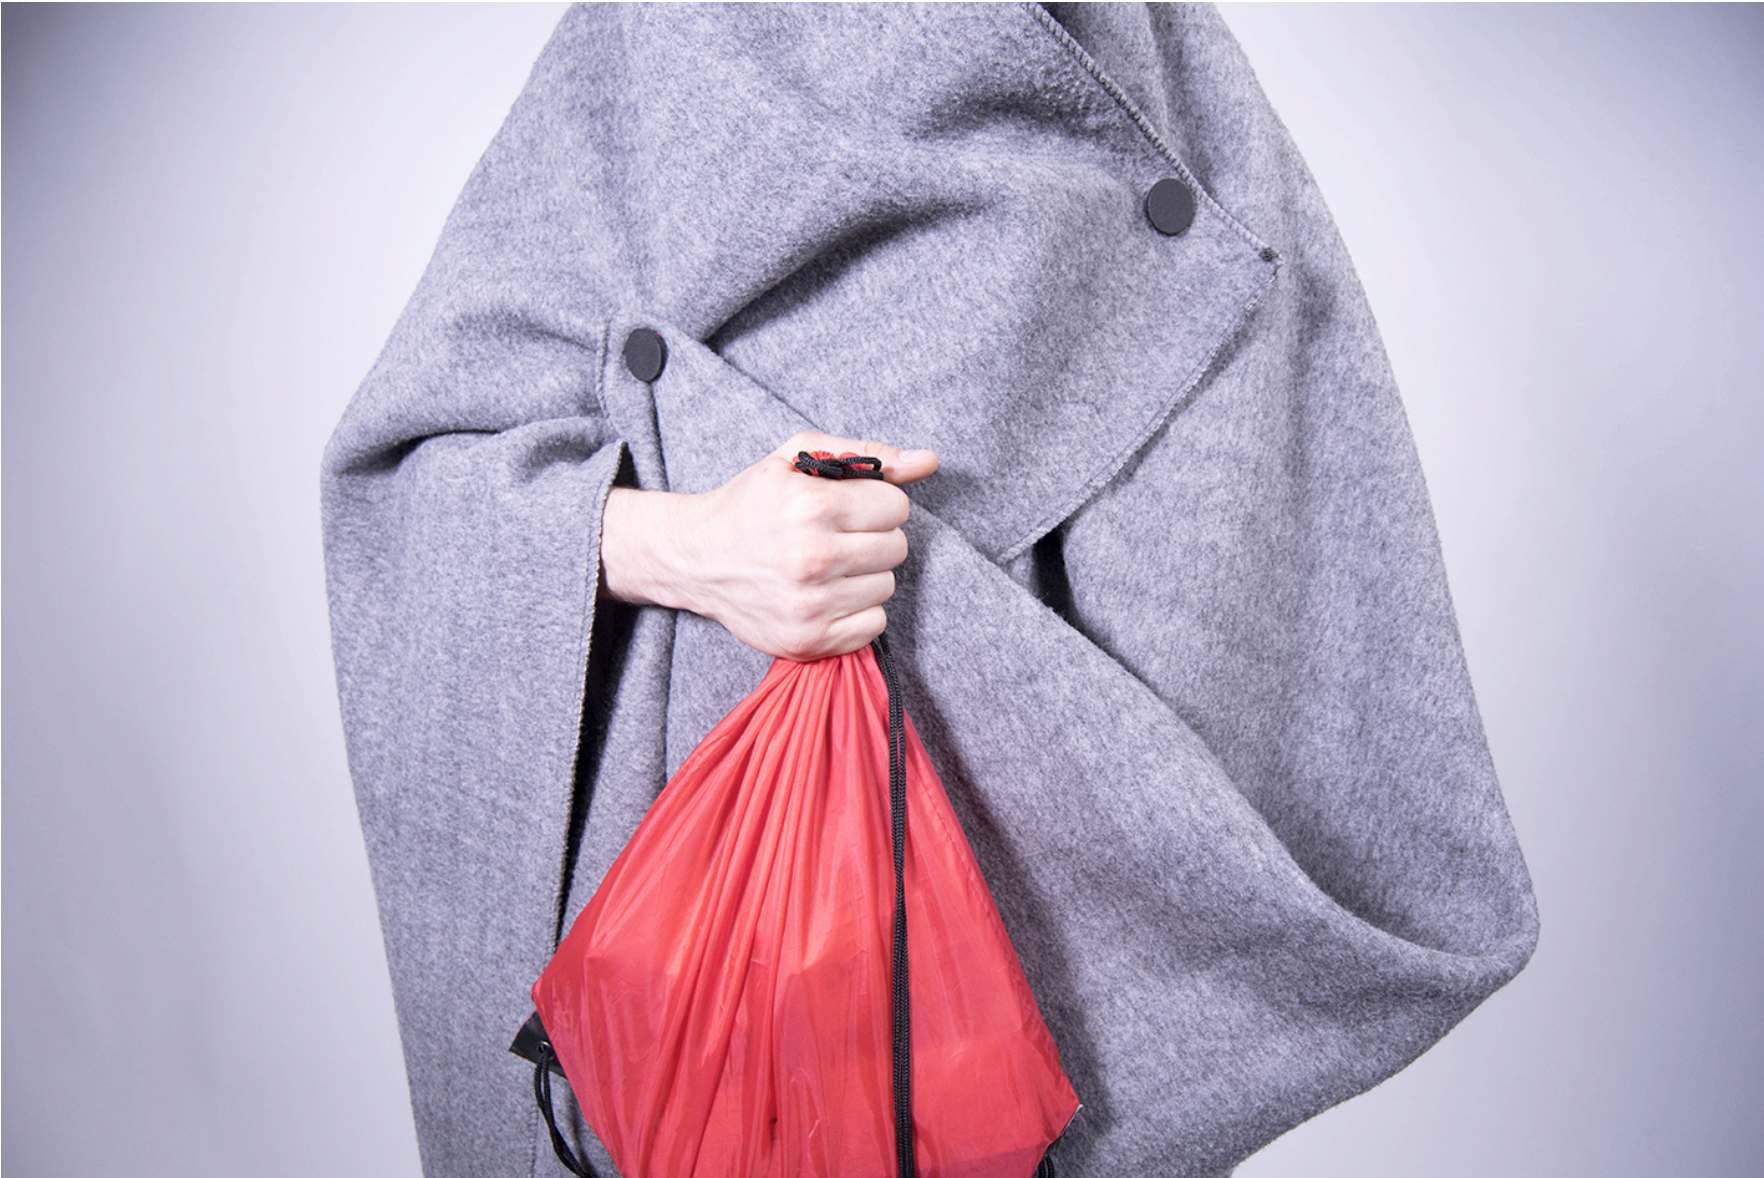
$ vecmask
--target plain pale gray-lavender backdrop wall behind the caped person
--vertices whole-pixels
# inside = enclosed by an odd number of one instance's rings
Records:
[[[316,469],[556,16],[5,9],[12,1178],[416,1171]],[[1757,1178],[1764,12],[1226,18],[1383,324],[1544,912],[1240,1173]]]

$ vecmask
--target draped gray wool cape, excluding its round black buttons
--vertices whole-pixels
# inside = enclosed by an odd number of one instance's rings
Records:
[[[609,487],[801,429],[942,455],[889,633],[1085,1104],[1064,1174],[1222,1174],[1526,963],[1390,369],[1219,16],[577,9],[325,455],[425,1173],[559,1173],[529,986],[767,665],[596,603]]]

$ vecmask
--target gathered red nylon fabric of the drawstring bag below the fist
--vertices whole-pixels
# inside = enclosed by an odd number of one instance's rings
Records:
[[[778,660],[649,808],[533,988],[624,1178],[894,1176],[887,688]],[[924,1178],[1028,1178],[1078,1111],[907,721]]]

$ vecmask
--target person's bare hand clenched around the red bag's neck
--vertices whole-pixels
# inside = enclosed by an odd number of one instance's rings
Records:
[[[803,450],[882,459],[882,478],[799,473]],[[691,610],[766,654],[808,661],[868,644],[907,559],[907,496],[937,469],[930,450],[797,434],[702,496],[616,487],[602,518],[607,596]]]

